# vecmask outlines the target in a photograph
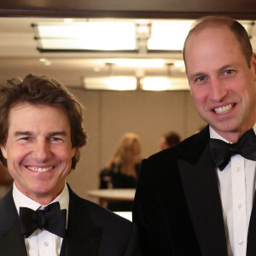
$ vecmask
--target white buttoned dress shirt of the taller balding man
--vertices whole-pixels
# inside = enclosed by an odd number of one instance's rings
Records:
[[[254,128],[256,125],[254,125]],[[230,143],[210,127],[210,137]],[[217,168],[229,256],[246,256],[247,230],[253,208],[256,162],[240,154],[222,172]]]

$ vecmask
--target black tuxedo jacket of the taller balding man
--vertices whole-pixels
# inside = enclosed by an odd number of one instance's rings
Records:
[[[143,255],[227,256],[209,129],[143,160],[133,207]],[[256,255],[255,197],[247,256]]]

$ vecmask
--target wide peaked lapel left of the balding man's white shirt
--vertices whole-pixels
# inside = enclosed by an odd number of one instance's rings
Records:
[[[178,168],[202,255],[227,256],[218,177],[209,146],[207,145],[195,165],[178,160]]]

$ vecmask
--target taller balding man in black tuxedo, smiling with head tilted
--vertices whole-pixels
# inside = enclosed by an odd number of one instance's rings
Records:
[[[256,55],[236,20],[208,16],[183,49],[209,125],[143,160],[133,208],[144,255],[256,255]]]

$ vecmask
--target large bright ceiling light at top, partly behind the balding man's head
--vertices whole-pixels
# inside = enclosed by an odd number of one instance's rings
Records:
[[[41,52],[126,51],[147,54],[180,51],[194,20],[106,20],[32,24]],[[249,35],[253,22],[241,20]]]

